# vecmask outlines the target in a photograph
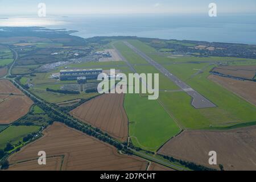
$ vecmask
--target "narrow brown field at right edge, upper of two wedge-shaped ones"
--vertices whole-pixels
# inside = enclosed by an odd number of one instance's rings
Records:
[[[213,69],[213,72],[223,75],[253,80],[256,74],[256,66],[220,66]]]

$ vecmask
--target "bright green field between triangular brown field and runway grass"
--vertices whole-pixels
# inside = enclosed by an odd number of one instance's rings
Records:
[[[124,105],[129,118],[129,136],[137,147],[156,151],[180,131],[157,100],[126,94]]]

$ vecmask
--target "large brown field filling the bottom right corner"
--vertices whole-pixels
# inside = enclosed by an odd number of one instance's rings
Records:
[[[209,151],[217,152],[217,163],[225,170],[256,170],[256,127],[184,131],[160,148],[159,154],[214,167],[208,163]]]

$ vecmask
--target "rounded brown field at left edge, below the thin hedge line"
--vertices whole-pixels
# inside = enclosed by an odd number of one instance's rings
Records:
[[[27,96],[9,96],[0,103],[0,124],[10,124],[23,117],[32,105]]]

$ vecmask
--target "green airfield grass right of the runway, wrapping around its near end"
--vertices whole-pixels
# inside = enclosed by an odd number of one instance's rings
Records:
[[[255,106],[208,79],[209,71],[214,67],[214,65],[208,63],[209,61],[234,60],[233,64],[255,65],[255,60],[233,59],[230,57],[180,57],[170,59],[152,54],[152,49],[141,42],[132,41],[131,43],[141,50],[146,50],[145,53],[159,63],[166,63],[167,60],[183,63],[163,64],[163,66],[217,105],[214,108],[195,109],[191,106],[191,97],[185,93],[160,92],[160,101],[182,126],[189,129],[210,129],[256,121]],[[200,69],[203,73],[199,73]]]

